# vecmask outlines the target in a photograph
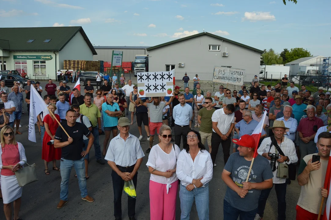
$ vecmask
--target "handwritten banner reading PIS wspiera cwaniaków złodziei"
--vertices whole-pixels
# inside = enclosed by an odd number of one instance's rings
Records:
[[[214,66],[213,82],[230,85],[244,85],[245,69]]]

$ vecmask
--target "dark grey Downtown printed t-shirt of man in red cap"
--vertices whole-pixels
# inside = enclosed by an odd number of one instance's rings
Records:
[[[233,182],[240,188],[243,188],[243,182],[246,182],[250,166],[251,161],[247,161],[237,152],[230,155],[224,166],[224,169],[231,173],[230,177],[232,178]],[[268,160],[263,156],[258,155],[254,159],[251,175],[248,179],[248,182],[261,183],[264,180],[272,179],[272,177],[273,174]],[[260,193],[261,190],[252,189],[248,191],[245,198],[241,198],[235,191],[227,186],[224,199],[230,203],[232,207],[248,212],[258,207]]]

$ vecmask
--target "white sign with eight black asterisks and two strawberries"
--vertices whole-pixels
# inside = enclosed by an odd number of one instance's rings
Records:
[[[164,72],[138,72],[139,97],[172,96],[175,69]]]

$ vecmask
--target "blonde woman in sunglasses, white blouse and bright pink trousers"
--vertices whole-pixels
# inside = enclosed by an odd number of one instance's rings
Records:
[[[151,220],[175,220],[178,178],[176,162],[180,149],[170,143],[171,128],[162,125],[159,138],[148,156],[147,167],[151,173],[149,181],[149,199]]]

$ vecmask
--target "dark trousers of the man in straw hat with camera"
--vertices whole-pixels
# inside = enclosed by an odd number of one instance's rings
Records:
[[[278,183],[273,184],[275,186],[276,196],[277,196],[277,202],[278,202],[278,218],[277,219],[286,219],[286,186],[287,183]],[[272,188],[273,188],[272,186]],[[259,206],[258,206],[258,214],[260,217],[263,217],[265,203],[267,202],[267,199],[269,197],[270,189],[261,190],[260,198],[259,198]],[[273,202],[274,204],[274,202]]]

